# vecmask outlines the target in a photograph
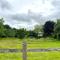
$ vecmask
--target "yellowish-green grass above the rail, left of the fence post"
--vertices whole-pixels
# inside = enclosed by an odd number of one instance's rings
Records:
[[[22,41],[16,38],[0,38],[0,48],[22,48]]]

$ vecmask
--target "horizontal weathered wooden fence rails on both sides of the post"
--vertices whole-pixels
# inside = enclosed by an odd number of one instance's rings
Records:
[[[27,49],[27,52],[49,52],[49,51],[60,51],[60,48],[48,48],[48,49]],[[22,49],[0,49],[0,53],[9,52],[23,52]]]

